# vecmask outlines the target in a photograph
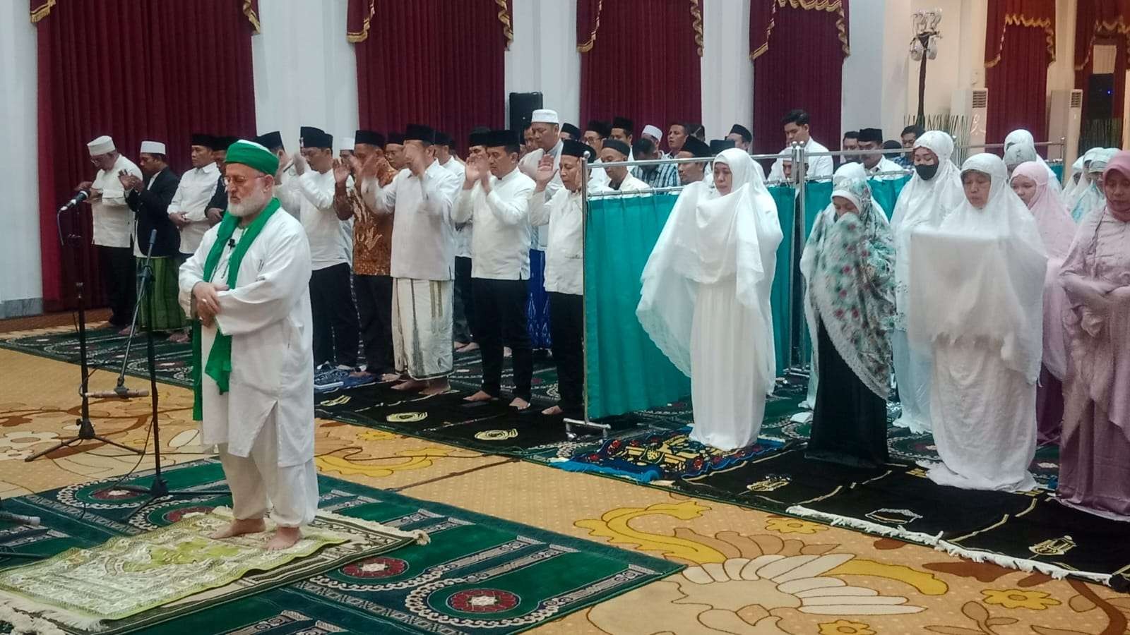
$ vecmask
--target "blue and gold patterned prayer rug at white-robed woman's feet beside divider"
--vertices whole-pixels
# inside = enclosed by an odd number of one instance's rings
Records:
[[[567,471],[626,477],[641,482],[673,481],[740,466],[781,447],[780,443],[764,441],[738,450],[718,450],[692,441],[689,435],[690,428],[683,427],[642,438],[610,438],[591,452],[583,450],[567,461],[550,464]]]

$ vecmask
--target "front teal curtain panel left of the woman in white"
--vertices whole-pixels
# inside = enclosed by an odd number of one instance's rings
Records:
[[[662,406],[690,380],[636,320],[640,276],[675,207],[675,194],[589,201],[584,234],[585,386],[589,418]]]

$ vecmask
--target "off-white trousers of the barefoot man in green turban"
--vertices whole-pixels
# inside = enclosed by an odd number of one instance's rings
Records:
[[[221,443],[219,460],[232,488],[236,519],[261,519],[271,508],[271,520],[279,527],[299,527],[318,513],[318,470],[313,458],[298,466],[279,466],[277,427],[272,414],[247,456],[229,454],[227,444]]]

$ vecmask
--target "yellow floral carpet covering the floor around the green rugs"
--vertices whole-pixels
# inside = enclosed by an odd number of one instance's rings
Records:
[[[92,388],[114,382],[99,371]],[[0,350],[0,496],[120,475],[138,462],[97,442],[23,461],[75,433],[77,383],[77,366]],[[199,459],[191,392],[159,388],[163,456]],[[146,441],[148,412],[147,399],[90,408],[99,434],[134,447]],[[538,633],[1127,633],[1130,595],[850,530],[322,419],[315,453],[327,475],[690,565]],[[151,466],[146,455],[141,469]]]

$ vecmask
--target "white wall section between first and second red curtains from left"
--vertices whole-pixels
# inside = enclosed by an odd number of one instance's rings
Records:
[[[357,130],[357,61],[346,41],[346,7],[347,0],[259,5],[262,33],[251,38],[255,122],[259,132],[281,131],[288,151],[298,149],[301,125],[333,134],[334,146]]]

